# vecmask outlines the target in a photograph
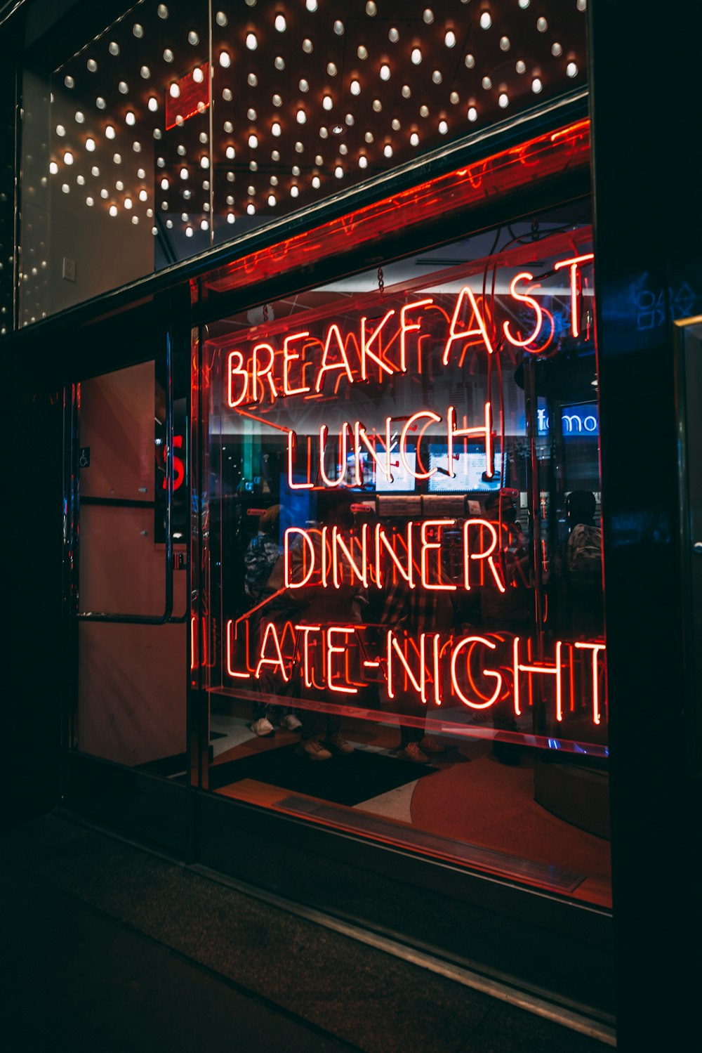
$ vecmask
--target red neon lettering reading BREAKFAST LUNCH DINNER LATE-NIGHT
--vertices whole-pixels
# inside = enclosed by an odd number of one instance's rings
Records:
[[[582,271],[593,259],[591,253],[574,255],[549,272],[567,276],[567,292],[561,290],[560,295],[569,305],[574,337],[580,333]],[[415,481],[427,482],[432,491],[435,477],[457,478],[462,456],[458,450],[467,450],[468,443],[479,450],[470,456],[480,458],[482,480],[495,479],[499,486],[494,460],[501,429],[496,428],[499,408],[497,401],[493,403],[489,384],[487,399],[478,406],[473,403],[474,419],[462,416],[460,424],[456,404],[435,408],[424,399],[405,403],[406,415],[400,415],[401,411],[396,416],[384,414],[376,429],[335,406],[334,434],[329,423],[317,421],[312,434],[298,435],[287,425],[286,413],[272,414],[275,420],[266,419],[266,414],[272,408],[287,409],[289,399],[340,402],[360,392],[361,385],[366,391],[368,385],[387,385],[394,396],[400,378],[412,374],[415,380],[429,364],[434,371],[453,372],[463,366],[468,350],[474,356],[484,356],[488,378],[492,362],[499,372],[501,351],[513,357],[517,352],[517,357],[547,353],[556,324],[540,302],[541,284],[533,270],[519,270],[512,277],[504,297],[509,317],[504,320],[497,317],[494,297],[488,307],[484,293],[463,284],[453,294],[449,309],[445,307],[447,294],[441,303],[437,294],[396,306],[385,300],[382,313],[369,318],[359,312],[350,323],[327,317],[317,332],[313,320],[294,331],[277,323],[277,329],[263,331],[265,339],[252,339],[227,352],[225,404],[242,417],[283,433],[290,494],[358,489],[364,484],[368,464],[377,492],[393,483],[394,473],[413,486]],[[559,338],[562,334],[563,326]],[[433,353],[430,363],[425,341]],[[544,412],[538,412],[541,431],[547,421]],[[581,423],[585,432],[591,432],[589,416]],[[437,438],[445,450],[440,460],[432,452]],[[434,446],[427,457],[429,442]],[[302,506],[305,493],[297,499]],[[352,509],[355,514],[376,511],[358,503]],[[315,524],[314,519],[287,526],[281,537],[280,588],[226,624],[226,675],[242,686],[249,681],[252,688],[262,679],[266,687],[278,682],[281,690],[299,678],[305,691],[324,692],[327,699],[358,696],[376,684],[390,700],[410,695],[427,708],[452,704],[475,712],[499,706],[500,712],[506,707],[515,717],[526,713],[538,695],[557,723],[564,720],[568,706],[574,708],[578,684],[580,703],[586,699],[590,720],[599,724],[606,708],[602,640],[558,638],[547,644],[541,641],[543,650],[537,650],[536,641],[516,633],[468,631],[468,627],[446,632],[421,623],[406,632],[360,620],[346,622],[343,617],[337,620],[336,615],[332,623],[325,623],[324,618],[307,621],[298,614],[287,619],[279,613],[281,609],[299,611],[306,601],[313,604],[312,611],[316,595],[325,597],[328,604],[335,593],[341,609],[349,590],[377,598],[378,593],[398,589],[400,602],[418,594],[426,594],[427,602],[430,598],[459,602],[462,594],[478,588],[504,596],[519,587],[505,573],[509,528],[499,513],[497,519],[489,519],[476,511],[467,518],[461,512],[426,518],[407,514],[401,516],[401,526],[369,517],[357,519],[353,528],[335,521]],[[322,592],[316,594],[316,590]],[[272,600],[279,602],[268,608],[268,614],[266,604]]]

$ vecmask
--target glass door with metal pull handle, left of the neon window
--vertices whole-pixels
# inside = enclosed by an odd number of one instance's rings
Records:
[[[187,360],[171,336],[149,347],[71,390],[68,769],[99,758],[184,788]]]

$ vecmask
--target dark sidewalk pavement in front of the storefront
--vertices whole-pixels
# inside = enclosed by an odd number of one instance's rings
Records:
[[[12,1053],[608,1048],[56,815],[0,835],[0,891]]]

